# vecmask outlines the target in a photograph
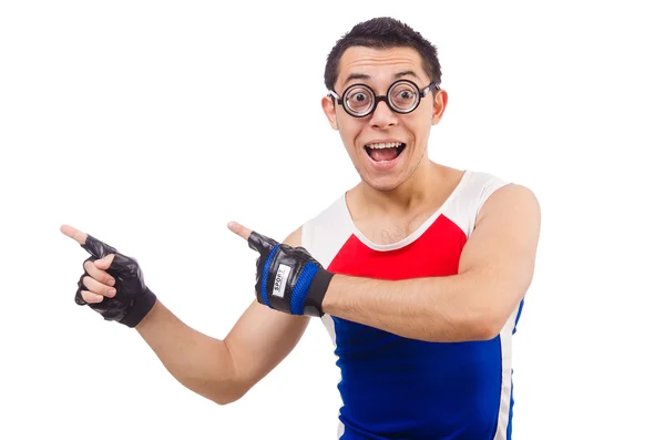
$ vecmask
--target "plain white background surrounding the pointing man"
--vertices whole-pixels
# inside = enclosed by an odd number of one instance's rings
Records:
[[[405,20],[450,101],[430,156],[530,186],[543,227],[514,339],[514,438],[664,438],[665,17],[657,2],[3,1],[0,438],[334,439],[323,325],[243,400],[176,382],[134,330],[74,305],[71,224],[139,259],[224,337],[256,255],[357,182],[323,112],[352,24]],[[293,193],[276,207],[270,194]]]

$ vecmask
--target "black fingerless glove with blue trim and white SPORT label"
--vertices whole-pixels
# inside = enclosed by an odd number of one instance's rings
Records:
[[[321,303],[332,278],[304,247],[279,244],[253,232],[249,247],[256,260],[256,298],[263,305],[290,315],[324,315]]]

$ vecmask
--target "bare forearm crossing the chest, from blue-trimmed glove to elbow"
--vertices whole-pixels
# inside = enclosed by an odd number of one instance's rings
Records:
[[[483,340],[495,336],[492,305],[481,298],[482,278],[380,280],[332,277],[325,313],[403,337],[427,341]]]

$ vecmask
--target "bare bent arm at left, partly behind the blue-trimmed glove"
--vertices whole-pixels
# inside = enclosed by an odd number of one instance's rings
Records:
[[[300,229],[285,243],[299,246]],[[243,397],[293,350],[308,321],[254,300],[227,337],[215,339],[186,326],[157,301],[136,330],[176,380],[226,405]]]

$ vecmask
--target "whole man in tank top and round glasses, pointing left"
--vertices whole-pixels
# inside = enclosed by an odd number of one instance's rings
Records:
[[[92,254],[76,301],[135,327],[177,380],[221,405],[275,368],[314,317],[339,357],[342,439],[510,439],[511,337],[540,208],[524,186],[428,158],[440,80],[436,49],[396,20],[337,42],[321,105],[360,183],[283,244],[228,225],[259,258],[256,300],[224,340],[166,309],[135,260],[63,226]]]

